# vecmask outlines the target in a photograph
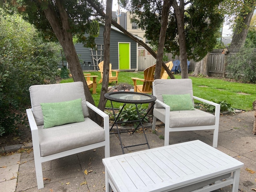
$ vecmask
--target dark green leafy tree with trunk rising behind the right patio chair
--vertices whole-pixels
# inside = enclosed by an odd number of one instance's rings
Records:
[[[122,0],[134,16],[132,21],[145,30],[150,43],[159,45],[163,2],[161,0]],[[182,78],[188,78],[187,59],[201,60],[214,48],[223,21],[220,0],[170,0],[164,49],[181,56]]]

